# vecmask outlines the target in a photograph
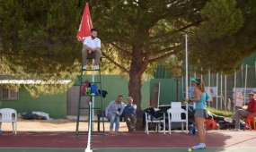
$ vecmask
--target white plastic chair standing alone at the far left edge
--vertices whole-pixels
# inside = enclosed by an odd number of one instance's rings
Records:
[[[0,120],[0,130],[2,128],[2,122],[12,122],[13,123],[13,133],[17,134],[17,112],[11,108],[0,109],[0,114],[2,114],[2,119]],[[14,114],[14,119],[13,115]]]

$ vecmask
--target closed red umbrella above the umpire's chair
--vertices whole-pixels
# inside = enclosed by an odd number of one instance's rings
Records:
[[[89,4],[86,3],[84,14],[83,14],[76,38],[79,41],[83,41],[85,37],[88,37],[91,35],[90,33],[91,29],[93,29],[93,24],[92,24],[91,15],[90,15]]]

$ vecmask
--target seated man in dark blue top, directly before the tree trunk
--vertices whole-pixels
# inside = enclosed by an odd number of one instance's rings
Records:
[[[133,104],[132,97],[128,97],[128,105],[125,106],[123,115],[125,122],[127,122],[129,132],[135,131],[135,125],[137,122],[136,109],[137,106]]]

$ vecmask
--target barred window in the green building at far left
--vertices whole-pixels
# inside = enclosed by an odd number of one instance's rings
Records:
[[[19,91],[13,89],[0,88],[0,100],[18,100]]]

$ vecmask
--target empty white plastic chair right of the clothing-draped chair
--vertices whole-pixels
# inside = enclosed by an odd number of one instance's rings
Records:
[[[170,108],[167,110],[169,134],[171,134],[172,122],[181,122],[181,129],[182,131],[184,131],[184,123],[186,123],[187,120],[181,119],[182,113],[187,114],[187,111],[182,108]],[[186,125],[186,131],[188,131],[187,125]]]

